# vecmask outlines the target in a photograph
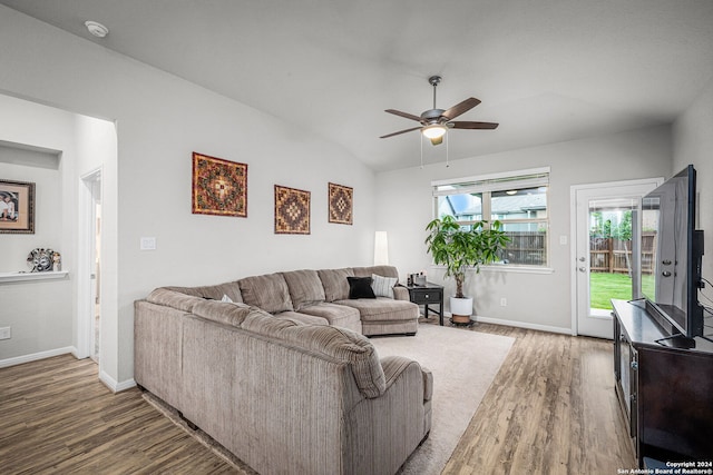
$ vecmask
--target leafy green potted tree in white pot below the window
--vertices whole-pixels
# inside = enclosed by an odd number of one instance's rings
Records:
[[[461,227],[456,218],[446,215],[428,224],[426,238],[428,253],[436,265],[446,266],[446,277],[456,279],[456,295],[450,298],[451,321],[469,324],[472,314],[472,297],[463,295],[466,270],[491,264],[498,259],[498,251],[510,240],[495,220],[486,228],[487,221],[478,221],[470,229]]]

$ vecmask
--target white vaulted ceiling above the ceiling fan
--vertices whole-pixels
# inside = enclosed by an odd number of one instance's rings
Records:
[[[374,170],[420,162],[385,113],[482,101],[450,159],[673,121],[713,78],[711,0],[0,0],[340,144]],[[106,24],[91,37],[86,20]],[[423,145],[426,162],[446,146]]]

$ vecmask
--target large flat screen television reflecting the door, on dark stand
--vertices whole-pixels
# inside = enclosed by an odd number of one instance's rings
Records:
[[[651,313],[672,326],[672,336],[688,338],[703,335],[703,231],[695,229],[695,181],[688,165],[642,199],[643,297]]]

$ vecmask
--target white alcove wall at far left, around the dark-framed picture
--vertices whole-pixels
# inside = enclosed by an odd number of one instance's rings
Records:
[[[71,268],[74,253],[65,230],[74,212],[64,199],[62,174],[76,155],[72,115],[0,96],[0,140],[61,151],[55,168],[0,162],[0,178],[36,186],[35,234],[0,235],[0,273],[29,270],[27,256],[38,247],[61,253]],[[11,339],[0,342],[0,360],[72,347],[72,277],[0,284],[0,326],[12,331]]]

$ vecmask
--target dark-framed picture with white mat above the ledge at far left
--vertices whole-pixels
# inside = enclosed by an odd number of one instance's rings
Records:
[[[35,184],[0,179],[0,234],[35,234]]]

